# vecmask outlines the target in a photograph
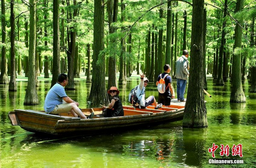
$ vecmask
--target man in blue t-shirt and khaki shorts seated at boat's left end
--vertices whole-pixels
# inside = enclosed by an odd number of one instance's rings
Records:
[[[81,119],[86,119],[86,116],[78,108],[79,103],[72,100],[67,96],[64,86],[68,83],[67,74],[60,74],[58,76],[58,82],[53,85],[45,97],[44,109],[48,114],[59,114],[71,112],[73,116],[80,116]],[[94,113],[89,116],[92,118]]]

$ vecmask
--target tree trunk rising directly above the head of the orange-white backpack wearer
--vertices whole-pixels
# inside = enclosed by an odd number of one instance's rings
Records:
[[[171,65],[172,2],[167,2],[165,64]]]

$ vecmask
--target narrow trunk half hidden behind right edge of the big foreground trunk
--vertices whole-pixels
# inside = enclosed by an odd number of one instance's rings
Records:
[[[203,71],[203,80],[204,80],[204,89],[207,90],[207,78],[206,78],[206,8],[204,8],[204,17],[203,17],[203,63],[204,63],[204,71]]]

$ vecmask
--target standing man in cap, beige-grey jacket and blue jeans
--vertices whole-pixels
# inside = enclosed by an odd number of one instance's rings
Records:
[[[188,50],[183,50],[183,55],[176,61],[176,79],[177,79],[177,98],[178,101],[184,102],[184,93],[186,88],[186,83],[189,77],[189,52]]]

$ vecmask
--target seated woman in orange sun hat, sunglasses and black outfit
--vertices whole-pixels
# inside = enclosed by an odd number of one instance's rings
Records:
[[[104,117],[117,117],[123,116],[123,105],[119,98],[119,90],[117,87],[110,87],[108,94],[111,96],[111,103],[109,106],[102,106],[105,109]]]

